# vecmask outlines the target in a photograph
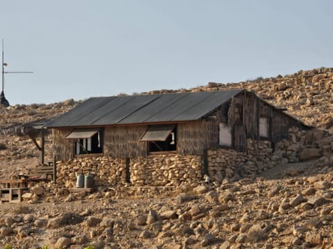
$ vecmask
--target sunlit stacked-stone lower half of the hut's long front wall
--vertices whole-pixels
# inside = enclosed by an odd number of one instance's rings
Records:
[[[57,182],[66,187],[76,186],[78,173],[94,175],[97,186],[126,184],[126,159],[108,157],[75,158],[57,163]],[[200,181],[201,157],[155,155],[130,158],[130,182],[142,185],[179,185]]]

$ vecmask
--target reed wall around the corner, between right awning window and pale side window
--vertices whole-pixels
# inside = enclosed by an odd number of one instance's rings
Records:
[[[219,147],[219,120],[178,124],[178,153],[202,155],[204,149]]]

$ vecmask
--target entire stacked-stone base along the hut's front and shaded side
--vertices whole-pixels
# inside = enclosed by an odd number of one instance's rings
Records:
[[[318,129],[302,131],[293,127],[289,129],[289,140],[281,140],[274,145],[268,140],[248,139],[246,152],[208,150],[208,174],[211,181],[222,183],[223,180],[255,176],[257,172],[275,165],[298,163],[300,160],[319,159],[319,164],[327,164],[332,155],[332,133]],[[202,162],[202,156],[176,154],[130,158],[130,185],[178,186],[188,183],[194,186],[202,181]],[[85,156],[58,162],[58,183],[75,187],[76,174],[81,171],[94,174],[97,186],[126,184],[126,159],[106,156]]]

